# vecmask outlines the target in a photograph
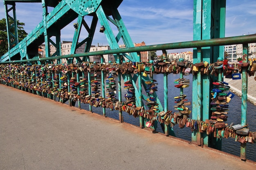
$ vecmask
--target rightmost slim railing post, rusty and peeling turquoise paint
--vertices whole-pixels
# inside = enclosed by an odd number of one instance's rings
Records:
[[[243,44],[243,62],[248,62],[248,44]],[[242,105],[241,105],[241,125],[247,124],[247,67],[242,67]],[[246,160],[246,142],[241,144],[240,157]]]

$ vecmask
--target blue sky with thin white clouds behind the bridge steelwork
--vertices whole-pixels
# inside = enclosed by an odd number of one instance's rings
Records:
[[[3,0],[0,1],[2,19],[5,18],[5,8]],[[256,0],[227,0],[225,37],[256,33],[255,9]],[[123,0],[118,11],[134,43],[144,41],[146,45],[153,45],[193,40],[193,0]],[[25,23],[25,31],[30,33],[43,18],[42,4],[17,2],[16,16],[17,20]],[[75,22],[61,30],[61,41],[72,41]],[[108,45],[105,35],[97,31],[99,28],[98,23],[92,45]],[[80,39],[87,35],[87,31],[81,33]],[[182,51],[191,49],[167,52]],[[159,52],[157,54],[161,55]]]

